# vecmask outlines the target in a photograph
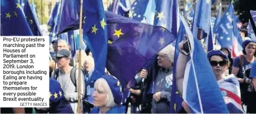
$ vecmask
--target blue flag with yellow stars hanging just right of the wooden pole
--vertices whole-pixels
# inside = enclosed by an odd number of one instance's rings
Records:
[[[104,75],[107,59],[107,24],[102,0],[83,0],[83,13],[83,40],[95,64],[90,78],[93,81]]]

